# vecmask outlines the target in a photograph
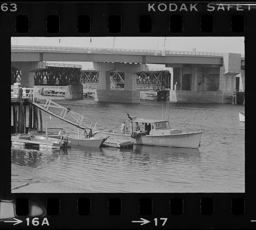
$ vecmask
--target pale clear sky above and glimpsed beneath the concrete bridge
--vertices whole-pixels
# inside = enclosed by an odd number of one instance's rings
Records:
[[[90,42],[92,39],[92,43]],[[16,40],[17,39],[17,40]],[[60,39],[60,43],[59,43]],[[114,37],[12,37],[12,45],[47,45],[93,48],[113,48]],[[164,37],[115,37],[116,49],[163,50]],[[167,37],[165,49],[172,51],[192,51],[244,54],[244,37]],[[63,62],[55,62],[63,63]],[[64,62],[92,68],[91,62]],[[164,68],[164,65],[150,64],[149,68]]]

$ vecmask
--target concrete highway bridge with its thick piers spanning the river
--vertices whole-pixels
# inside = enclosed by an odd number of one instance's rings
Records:
[[[237,75],[244,89],[244,55],[237,53],[15,45],[11,52],[12,66],[24,75],[21,86],[30,88],[33,72],[44,68],[44,61],[93,62],[99,71],[96,101],[139,103],[136,73],[146,71],[146,63],[172,68],[171,101],[194,98],[198,102],[203,97],[214,98],[209,102],[227,103],[236,90]],[[109,72],[115,70],[125,73],[124,91],[110,91]],[[202,96],[202,91],[207,93]]]

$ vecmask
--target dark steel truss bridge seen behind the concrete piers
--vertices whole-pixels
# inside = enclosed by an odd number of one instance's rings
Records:
[[[35,85],[68,85],[70,83],[99,82],[99,71],[93,69],[82,70],[81,65],[46,63],[46,68],[34,73]],[[110,82],[116,88],[124,87],[125,73],[110,71]],[[136,73],[137,83],[166,85],[171,82],[171,74],[163,69],[148,69]],[[11,68],[11,84],[21,82],[21,71]]]

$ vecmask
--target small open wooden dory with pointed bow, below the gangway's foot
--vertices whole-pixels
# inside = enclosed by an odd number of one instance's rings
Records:
[[[78,146],[90,146],[90,147],[100,147],[107,138],[89,138],[89,139],[80,139],[76,135],[66,134],[66,137],[69,141],[72,141],[72,145],[78,145]]]

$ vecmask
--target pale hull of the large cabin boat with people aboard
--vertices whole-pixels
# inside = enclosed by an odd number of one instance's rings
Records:
[[[134,139],[130,134],[99,131],[94,134],[96,137],[107,137],[121,140],[131,140],[137,145],[198,148],[202,132],[176,133],[169,135],[145,135]]]

